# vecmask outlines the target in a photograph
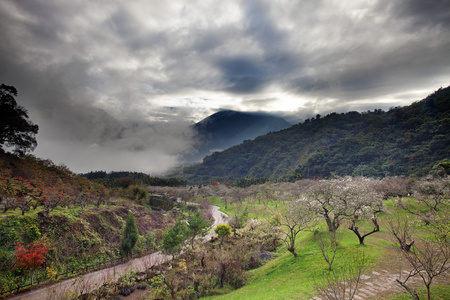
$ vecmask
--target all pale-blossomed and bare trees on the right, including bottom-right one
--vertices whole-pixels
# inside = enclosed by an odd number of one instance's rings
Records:
[[[433,280],[450,269],[450,178],[410,180],[390,178],[336,178],[302,181],[285,185],[274,193],[284,201],[272,217],[287,249],[294,255],[296,237],[302,231],[317,230],[324,221],[328,233],[315,233],[321,253],[332,270],[339,246],[337,230],[343,225],[351,230],[361,245],[369,235],[380,230],[379,215],[386,212],[383,200],[395,197],[396,214],[384,214],[383,223],[390,232],[400,256],[409,264],[408,274],[397,282],[414,299],[417,293],[408,285],[414,276],[422,279],[431,299]],[[369,221],[371,230],[361,230],[361,221]],[[426,230],[426,236],[416,234]],[[335,274],[335,273],[333,273]]]

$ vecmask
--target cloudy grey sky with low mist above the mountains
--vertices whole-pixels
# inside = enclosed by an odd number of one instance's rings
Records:
[[[2,0],[0,82],[74,172],[162,174],[220,109],[298,123],[450,85],[450,0]]]

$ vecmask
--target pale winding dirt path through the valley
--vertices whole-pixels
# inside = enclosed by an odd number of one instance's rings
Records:
[[[211,212],[214,217],[214,224],[212,228],[216,227],[217,224],[226,223],[227,215],[219,211],[218,206],[212,205]],[[210,234],[208,234],[205,239],[210,239],[212,235],[213,231],[211,229]],[[18,295],[12,295],[7,299],[59,300],[62,299],[63,295],[70,290],[78,295],[81,293],[89,293],[103,285],[105,282],[117,280],[126,272],[130,272],[131,270],[144,271],[151,266],[164,263],[170,259],[171,256],[169,255],[162,254],[161,252],[155,252],[150,255],[135,258],[127,263],[117,265],[115,267],[87,273]]]

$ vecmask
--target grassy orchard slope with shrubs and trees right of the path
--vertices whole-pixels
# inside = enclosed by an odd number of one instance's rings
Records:
[[[363,181],[370,184],[379,200],[383,199],[381,211],[359,207],[360,198],[366,197],[361,193],[367,192]],[[337,186],[339,183],[342,188]],[[402,287],[392,276],[420,297],[427,297],[430,292],[433,299],[446,299],[449,292],[446,285],[448,272],[439,274],[439,270],[450,267],[446,264],[446,260],[450,259],[449,188],[449,178],[301,180],[295,183],[267,183],[240,191],[224,185],[202,187],[206,190],[203,196],[221,195],[209,199],[227,207],[226,211],[233,216],[230,220],[233,233],[228,234],[228,231],[223,240],[216,238],[197,247],[189,247],[174,260],[136,274],[133,280],[127,281],[127,288],[133,285],[146,287],[135,296],[145,299],[203,296],[208,299],[310,299],[317,295],[322,299],[337,299],[323,294],[330,289],[346,294],[345,298],[339,299],[350,299],[350,292],[358,294],[359,288],[365,285],[360,281],[362,274],[365,274],[370,277],[369,283],[383,286],[374,296],[377,299],[397,299],[402,295],[411,297],[406,290],[404,293],[393,291],[394,287]],[[312,191],[315,191],[314,196]],[[406,197],[410,193],[415,198]],[[393,195],[395,198],[389,198]],[[199,197],[203,199],[203,196]],[[345,199],[343,196],[346,196]],[[335,213],[341,211],[342,214],[339,214],[339,221],[332,228],[327,224],[326,216],[316,214],[317,219],[311,221],[311,231],[300,230],[295,240],[295,255],[288,249],[290,245],[280,247],[277,242],[283,237],[283,231],[289,232],[292,228],[284,226],[278,219],[296,215],[292,206],[304,197],[315,197],[315,201],[326,197],[327,210]],[[348,209],[341,208],[343,202],[350,204]],[[359,208],[355,210],[355,207]],[[305,209],[315,211],[317,207],[314,205]],[[364,244],[361,244],[353,233],[355,226],[360,233],[372,232],[373,223],[365,217],[366,213],[376,213],[380,228],[373,235],[366,236]],[[407,220],[407,226],[397,227],[396,224],[403,224],[403,220]],[[411,239],[415,241],[413,248],[401,248],[401,243],[393,234],[398,230],[405,233],[402,239],[408,244],[411,244]],[[331,234],[335,234],[335,239],[328,241]],[[427,249],[427,244],[433,245],[431,252],[423,251]],[[180,248],[177,251],[179,253]],[[327,262],[325,258],[330,258],[333,253],[333,261]],[[414,267],[408,260],[414,257],[432,257],[432,264]],[[422,268],[427,270],[426,274],[433,273],[432,280],[429,280],[431,277],[426,278],[431,283],[429,291],[421,288],[424,283],[415,271]],[[404,271],[415,275],[407,278]],[[119,284],[122,287],[124,283]],[[352,285],[350,288],[349,284]],[[94,295],[114,297],[116,294],[112,290],[111,285],[105,285]]]

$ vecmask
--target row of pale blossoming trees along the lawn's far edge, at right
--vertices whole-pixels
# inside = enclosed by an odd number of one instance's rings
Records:
[[[335,232],[346,223],[363,245],[367,236],[379,231],[378,215],[385,211],[382,200],[388,197],[397,197],[399,207],[420,217],[425,224],[437,224],[437,213],[448,206],[450,179],[413,181],[398,177],[385,180],[343,177],[303,180],[284,184],[273,195],[285,203],[284,211],[276,212],[273,222],[284,229],[288,249],[295,255],[296,235],[315,228],[319,220],[325,221],[329,232]],[[407,201],[405,197],[408,197]],[[363,220],[373,224],[371,231],[361,231],[358,224]]]

